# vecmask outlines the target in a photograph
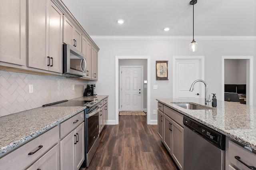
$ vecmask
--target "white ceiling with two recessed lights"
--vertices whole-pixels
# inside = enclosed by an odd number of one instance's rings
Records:
[[[90,36],[192,36],[190,0],[62,0]],[[125,20],[118,25],[116,20]],[[163,29],[169,27],[170,31]],[[194,36],[256,36],[256,0],[198,0]]]

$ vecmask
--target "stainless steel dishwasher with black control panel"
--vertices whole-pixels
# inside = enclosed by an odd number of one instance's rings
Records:
[[[184,123],[184,170],[224,170],[225,135],[186,116]]]

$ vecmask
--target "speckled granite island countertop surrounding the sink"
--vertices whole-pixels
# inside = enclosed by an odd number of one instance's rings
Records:
[[[156,99],[160,103],[256,150],[256,107],[217,100],[209,110],[189,110],[173,103],[204,105],[204,99]]]

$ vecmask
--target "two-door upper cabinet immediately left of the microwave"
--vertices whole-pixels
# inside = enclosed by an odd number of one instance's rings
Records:
[[[28,67],[62,73],[62,16],[51,0],[28,0]]]

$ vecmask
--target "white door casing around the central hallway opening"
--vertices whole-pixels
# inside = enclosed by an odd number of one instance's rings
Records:
[[[120,97],[120,93],[119,93],[119,89],[120,89],[120,76],[119,76],[119,63],[122,60],[130,60],[130,59],[144,59],[146,60],[146,77],[147,77],[147,83],[144,83],[144,87],[146,85],[146,87],[148,88],[144,88],[144,93],[146,93],[146,107],[147,107],[147,124],[154,124],[155,121],[151,121],[150,119],[150,56],[116,56],[116,108],[115,108],[115,114],[116,114],[116,125],[118,125],[119,123],[119,97]]]

